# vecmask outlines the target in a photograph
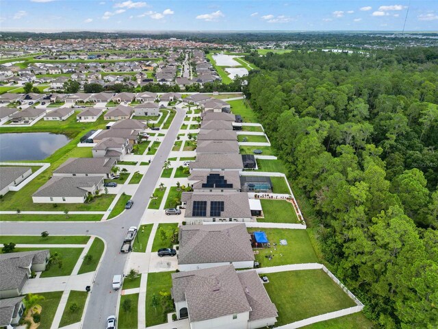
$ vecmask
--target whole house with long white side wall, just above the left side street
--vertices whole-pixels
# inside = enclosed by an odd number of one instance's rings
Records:
[[[53,176],[32,195],[36,204],[83,204],[88,195],[103,187],[103,175],[89,177]]]

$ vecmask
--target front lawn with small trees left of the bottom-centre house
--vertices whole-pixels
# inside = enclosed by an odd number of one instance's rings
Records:
[[[172,271],[149,273],[148,283],[146,287],[146,327],[156,326],[157,324],[164,324],[167,322],[167,313],[175,310],[172,301],[163,301],[160,295],[162,293],[170,293],[172,289]],[[152,296],[156,295],[159,298],[159,306],[155,312],[155,308],[152,307]],[[165,307],[163,307],[163,305]],[[137,327],[133,327],[137,328]]]

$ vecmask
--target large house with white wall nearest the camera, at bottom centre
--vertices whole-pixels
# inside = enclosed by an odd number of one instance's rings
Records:
[[[266,328],[278,317],[257,272],[233,265],[172,273],[172,298],[190,329]]]

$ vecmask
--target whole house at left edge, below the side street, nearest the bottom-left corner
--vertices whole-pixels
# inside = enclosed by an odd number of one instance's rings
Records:
[[[21,295],[32,271],[45,271],[49,250],[0,254],[0,299]]]

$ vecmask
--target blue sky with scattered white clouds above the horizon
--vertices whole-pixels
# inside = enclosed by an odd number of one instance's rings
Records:
[[[400,31],[408,5],[408,0],[0,0],[0,31]],[[405,30],[438,31],[438,0],[411,0]]]

